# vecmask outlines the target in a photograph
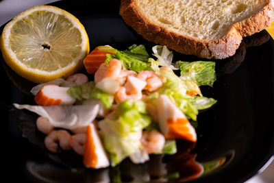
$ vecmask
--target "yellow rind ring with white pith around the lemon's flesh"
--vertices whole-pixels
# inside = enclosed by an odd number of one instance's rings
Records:
[[[73,62],[71,64],[63,67],[62,69],[58,69],[57,71],[41,71],[40,69],[32,69],[25,64],[23,64],[18,58],[16,57],[16,54],[11,51],[11,45],[9,44],[8,38],[10,36],[10,29],[12,26],[18,21],[23,19],[25,16],[28,16],[32,12],[36,11],[49,11],[53,12],[55,14],[60,14],[66,19],[69,19],[74,27],[77,27],[79,32],[81,33],[82,42],[84,42],[84,45],[82,46],[82,49],[79,53],[79,56],[77,58],[74,58]],[[89,53],[89,39],[88,34],[86,33],[86,29],[84,28],[84,25],[79,22],[79,20],[73,16],[73,14],[70,14],[69,12],[66,12],[65,10],[62,10],[60,8],[57,8],[55,6],[51,5],[38,5],[34,8],[31,8],[29,10],[26,10],[25,12],[22,12],[21,14],[18,14],[17,16],[12,19],[7,25],[5,25],[2,35],[1,35],[1,45],[0,45],[3,58],[7,62],[7,64],[14,70],[16,73],[21,75],[22,77],[25,77],[27,80],[31,80],[36,83],[40,82],[47,82],[49,80],[53,80],[57,77],[68,77],[72,73],[75,73],[76,71],[79,71],[84,66],[82,63],[84,57]],[[7,49],[8,48],[8,49]],[[79,66],[78,66],[79,65]],[[47,78],[43,78],[47,77]]]

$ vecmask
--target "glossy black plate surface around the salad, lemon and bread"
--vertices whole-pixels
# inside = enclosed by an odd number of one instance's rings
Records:
[[[83,23],[91,50],[98,45],[123,50],[136,43],[150,51],[154,45],[125,25],[119,16],[119,1],[59,1],[52,5]],[[232,58],[216,60],[217,81],[213,88],[201,90],[218,103],[199,114],[196,146],[179,141],[179,147],[184,147],[179,156],[153,156],[139,165],[125,160],[119,167],[103,170],[85,169],[81,158],[73,154],[45,150],[44,136],[34,125],[37,116],[11,108],[11,103],[34,103],[28,94],[34,84],[16,75],[1,57],[2,178],[9,182],[182,182],[199,170],[193,161],[196,156],[205,172],[189,182],[245,182],[274,152],[273,50],[273,39],[263,31],[245,38]],[[174,60],[200,60],[174,53]]]

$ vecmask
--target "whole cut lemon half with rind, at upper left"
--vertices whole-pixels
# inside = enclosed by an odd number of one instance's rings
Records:
[[[38,5],[18,14],[5,25],[0,43],[11,69],[35,83],[78,72],[90,49],[79,20],[51,5]]]

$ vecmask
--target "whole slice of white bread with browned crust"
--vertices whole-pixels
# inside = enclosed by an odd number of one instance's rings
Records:
[[[268,27],[274,0],[121,0],[127,25],[156,44],[200,58],[233,56],[242,37]]]

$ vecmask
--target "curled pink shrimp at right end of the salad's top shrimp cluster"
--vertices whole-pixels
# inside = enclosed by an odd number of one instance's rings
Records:
[[[162,80],[153,71],[140,71],[137,77],[147,82],[147,86],[144,89],[150,92],[158,90],[162,86]]]

